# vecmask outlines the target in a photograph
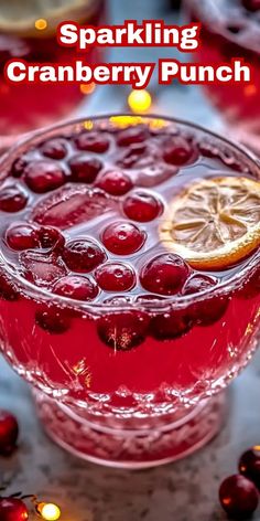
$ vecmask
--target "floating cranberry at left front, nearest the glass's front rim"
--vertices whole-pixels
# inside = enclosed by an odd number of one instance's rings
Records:
[[[53,291],[76,300],[93,300],[98,295],[98,287],[88,277],[67,275],[54,285]]]

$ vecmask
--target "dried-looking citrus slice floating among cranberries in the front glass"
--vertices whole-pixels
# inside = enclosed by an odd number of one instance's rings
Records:
[[[260,246],[260,182],[196,181],[174,196],[159,233],[194,268],[227,268]]]

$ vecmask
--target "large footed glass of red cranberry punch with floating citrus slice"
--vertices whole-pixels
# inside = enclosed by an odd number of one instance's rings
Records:
[[[0,334],[48,433],[93,461],[182,457],[259,338],[259,162],[189,124],[53,127],[1,160]]]

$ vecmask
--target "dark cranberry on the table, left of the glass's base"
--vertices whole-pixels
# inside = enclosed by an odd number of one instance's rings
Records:
[[[13,414],[0,411],[0,455],[8,456],[14,448],[18,440],[19,426]],[[0,515],[1,519],[1,515]]]

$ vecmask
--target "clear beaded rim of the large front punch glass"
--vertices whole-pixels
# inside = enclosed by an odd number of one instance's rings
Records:
[[[230,139],[227,139],[226,137],[221,137],[218,134],[196,124],[193,121],[186,121],[185,119],[180,119],[180,118],[174,118],[174,117],[167,117],[167,116],[159,116],[156,114],[149,114],[149,115],[142,115],[142,114],[130,114],[130,113],[112,113],[112,114],[102,114],[98,116],[85,116],[80,118],[75,118],[75,119],[65,119],[58,125],[51,125],[47,127],[43,127],[40,130],[30,132],[30,135],[23,136],[23,138],[19,139],[14,145],[12,145],[0,158],[0,181],[1,181],[1,169],[4,169],[4,163],[11,158],[11,162],[13,162],[14,159],[18,157],[18,152],[21,149],[28,149],[30,145],[33,145],[33,142],[36,140],[41,140],[41,138],[45,137],[50,132],[55,132],[59,131],[62,129],[68,129],[68,128],[75,128],[77,126],[84,126],[86,121],[99,121],[99,120],[109,120],[110,118],[117,118],[117,117],[127,117],[127,118],[132,118],[132,119],[139,119],[140,123],[145,123],[145,120],[165,120],[171,124],[180,125],[187,127],[189,129],[194,129],[195,131],[205,134],[206,137],[212,137],[220,142],[226,143],[228,147],[232,147],[234,149],[237,150],[237,152],[241,153],[242,156],[246,156],[246,158],[253,163],[254,167],[259,170],[260,173],[260,159],[247,147],[245,147],[241,143],[237,143],[236,141],[234,142]],[[130,126],[130,125],[129,125]],[[84,128],[86,128],[84,126]],[[93,128],[91,128],[93,130]],[[94,128],[95,130],[95,128]],[[41,142],[41,141],[40,141]],[[12,158],[13,156],[13,158]],[[240,173],[239,173],[240,174]],[[121,259],[122,260],[122,259]],[[252,254],[251,257],[249,257],[249,262],[241,270],[238,270],[235,273],[235,275],[230,276],[226,280],[223,280],[220,284],[217,284],[216,286],[208,288],[204,291],[199,291],[196,294],[191,294],[191,295],[172,295],[170,297],[161,296],[161,295],[155,295],[151,294],[152,299],[151,300],[145,300],[144,298],[141,299],[142,296],[134,296],[139,297],[139,300],[133,300],[133,301],[122,301],[122,299],[128,298],[128,293],[113,293],[115,299],[119,299],[118,304],[110,304],[107,301],[101,301],[101,302],[93,302],[93,301],[84,301],[84,300],[77,300],[73,299],[69,297],[64,297],[62,295],[57,294],[52,294],[48,289],[40,286],[35,286],[33,283],[30,280],[23,278],[19,272],[15,272],[11,265],[4,259],[3,255],[0,252],[0,267],[1,269],[7,274],[9,277],[9,281],[12,283],[12,279],[17,281],[19,285],[19,288],[24,288],[24,294],[26,296],[31,296],[34,298],[39,297],[44,297],[45,299],[47,298],[48,300],[52,300],[53,304],[59,302],[62,305],[69,305],[72,308],[80,308],[84,310],[90,310],[91,312],[96,310],[104,310],[106,309],[107,311],[111,310],[119,310],[121,308],[123,309],[143,309],[147,308],[150,311],[155,311],[160,310],[163,308],[169,308],[170,306],[177,305],[177,307],[186,307],[189,304],[194,304],[196,301],[203,300],[205,297],[208,297],[209,299],[216,296],[225,296],[229,294],[230,291],[235,290],[241,283],[241,280],[245,280],[245,277],[247,274],[249,274],[251,270],[254,268],[257,269],[258,267],[258,260],[259,260],[259,255],[258,255],[258,249]],[[212,274],[213,272],[210,272]],[[83,275],[83,274],[80,274]],[[88,274],[86,274],[88,275]],[[112,293],[111,293],[112,294]],[[109,298],[109,297],[108,297]]]

